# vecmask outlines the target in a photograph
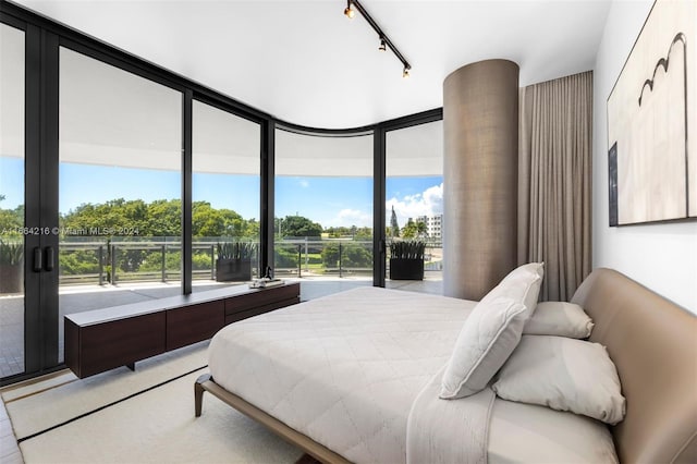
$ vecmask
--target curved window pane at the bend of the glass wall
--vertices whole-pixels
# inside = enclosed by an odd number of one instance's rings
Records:
[[[372,279],[372,133],[276,131],[277,276]]]

